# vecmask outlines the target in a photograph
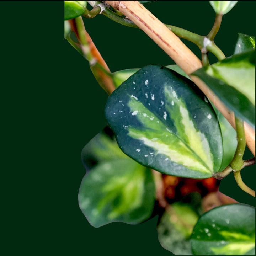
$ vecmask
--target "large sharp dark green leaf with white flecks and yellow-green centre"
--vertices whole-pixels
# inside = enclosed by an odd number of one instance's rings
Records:
[[[165,174],[208,178],[222,162],[213,108],[191,80],[150,65],[108,98],[106,118],[128,156]]]

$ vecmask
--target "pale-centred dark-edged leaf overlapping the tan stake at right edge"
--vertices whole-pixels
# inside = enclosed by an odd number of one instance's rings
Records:
[[[233,55],[196,70],[235,115],[255,127],[255,50]]]

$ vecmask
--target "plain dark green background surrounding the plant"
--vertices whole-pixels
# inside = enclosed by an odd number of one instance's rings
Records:
[[[158,1],[146,7],[162,22],[199,34],[209,32],[215,17],[208,1]],[[85,174],[81,150],[106,125],[107,95],[64,39],[63,1],[1,1],[0,10],[6,255],[171,255],[158,242],[156,218],[95,229],[78,207]],[[215,42],[226,56],[233,53],[237,32],[255,35],[254,12],[255,1],[241,1],[223,17]],[[104,16],[85,24],[111,71],[172,64],[140,30]],[[242,177],[255,189],[252,169]],[[221,188],[240,202],[255,203],[231,175]]]

